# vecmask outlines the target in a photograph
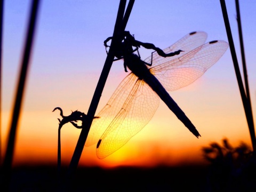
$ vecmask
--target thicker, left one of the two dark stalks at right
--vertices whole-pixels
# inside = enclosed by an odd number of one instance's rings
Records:
[[[247,102],[247,97],[246,97],[246,94],[245,94],[245,91],[244,91],[244,85],[243,85],[242,77],[241,77],[239,66],[238,66],[238,61],[237,61],[236,51],[235,51],[235,45],[234,45],[234,42],[233,42],[233,37],[232,37],[232,34],[231,34],[230,25],[229,25],[228,13],[227,13],[225,0],[220,0],[220,4],[221,4],[221,10],[222,10],[222,14],[223,14],[223,19],[224,19],[225,26],[226,26],[230,52],[231,52],[231,56],[232,56],[233,63],[234,63],[237,83],[238,83],[239,91],[240,91],[243,106],[244,106],[244,111],[245,111],[247,124],[248,124],[249,131],[250,131],[252,148],[255,151],[255,149],[256,149],[256,138],[255,138],[255,131],[254,131],[254,126],[253,126],[253,121],[252,121],[252,115],[250,113],[249,104]]]

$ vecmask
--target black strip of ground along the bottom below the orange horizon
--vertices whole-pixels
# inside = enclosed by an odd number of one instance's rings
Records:
[[[59,187],[57,167],[16,167],[10,191],[256,191],[255,180],[230,179],[223,170],[211,174],[206,166],[80,167],[70,190],[65,181],[67,169],[62,168],[61,172]]]

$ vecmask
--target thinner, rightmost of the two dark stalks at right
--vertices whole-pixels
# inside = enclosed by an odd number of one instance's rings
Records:
[[[237,25],[238,25],[238,33],[239,33],[239,41],[240,41],[242,64],[243,64],[243,72],[244,72],[245,91],[246,91],[246,97],[247,97],[247,102],[248,102],[248,105],[249,105],[250,114],[252,116],[252,124],[253,124],[253,129],[254,129],[253,114],[252,114],[252,104],[251,104],[250,89],[249,89],[249,83],[248,83],[248,77],[247,77],[247,68],[246,68],[245,52],[244,52],[244,41],[243,41],[241,16],[240,16],[240,9],[239,9],[239,2],[238,2],[238,0],[236,0],[236,13],[237,13]]]

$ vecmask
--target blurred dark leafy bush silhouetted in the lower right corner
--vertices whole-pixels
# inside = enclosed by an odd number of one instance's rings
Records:
[[[233,147],[228,139],[223,139],[222,145],[212,142],[202,150],[210,162],[209,191],[256,191],[255,155],[246,143]]]

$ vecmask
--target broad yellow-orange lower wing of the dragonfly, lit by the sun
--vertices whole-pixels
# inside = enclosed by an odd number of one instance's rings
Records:
[[[97,156],[105,158],[125,145],[150,121],[158,105],[158,95],[148,84],[138,79],[124,105],[100,138]]]

